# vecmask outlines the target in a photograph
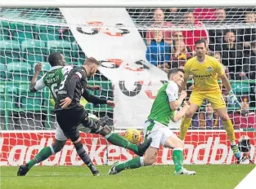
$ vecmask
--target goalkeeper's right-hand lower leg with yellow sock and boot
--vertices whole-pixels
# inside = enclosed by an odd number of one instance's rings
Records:
[[[240,160],[241,152],[239,148],[236,146],[236,136],[235,136],[234,126],[227,114],[227,108],[216,109],[216,111],[218,112],[218,116],[220,116],[220,118],[222,119],[222,123],[223,123],[224,129],[227,132],[227,136],[230,140],[231,149],[234,153],[234,156],[236,156],[237,160]]]

